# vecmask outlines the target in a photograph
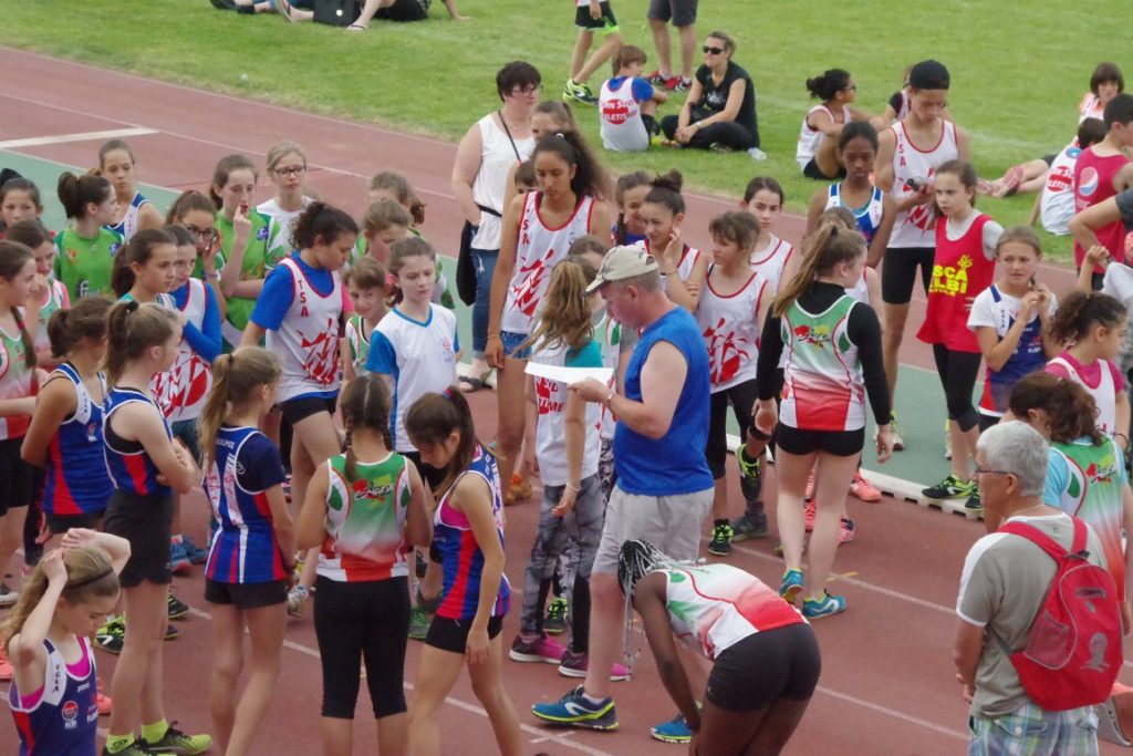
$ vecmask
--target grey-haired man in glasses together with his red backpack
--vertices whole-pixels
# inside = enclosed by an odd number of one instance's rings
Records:
[[[1047,443],[1024,423],[980,436],[988,535],[964,560],[956,678],[970,755],[1097,754],[1098,717],[1122,666],[1121,597],[1088,525],[1042,503]]]

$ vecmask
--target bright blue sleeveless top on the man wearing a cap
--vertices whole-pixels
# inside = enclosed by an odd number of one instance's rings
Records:
[[[676,401],[668,433],[653,440],[619,423],[614,430],[614,469],[617,485],[642,496],[673,496],[713,487],[705,461],[708,442],[708,350],[696,320],[681,307],[662,315],[638,337],[625,371],[625,396],[641,401],[641,368],[649,350],[667,341],[684,356],[688,373]]]

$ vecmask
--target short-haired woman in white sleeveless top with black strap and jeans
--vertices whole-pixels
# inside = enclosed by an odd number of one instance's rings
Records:
[[[461,389],[483,388],[492,374],[484,359],[488,338],[492,275],[500,256],[500,222],[508,195],[508,172],[531,156],[535,138],[531,114],[539,102],[542,77],[530,63],[517,60],[496,74],[503,107],[476,121],[457,147],[452,193],[465,215],[461,248],[468,247],[476,271],[472,304],[472,365],[460,379]],[[463,252],[461,253],[463,254]]]

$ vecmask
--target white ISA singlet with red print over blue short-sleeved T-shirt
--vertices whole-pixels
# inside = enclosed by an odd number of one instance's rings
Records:
[[[291,257],[280,262],[291,272],[291,305],[279,330],[267,331],[267,348],[280,358],[280,401],[306,393],[339,390],[339,315],[342,280],[322,295]]]

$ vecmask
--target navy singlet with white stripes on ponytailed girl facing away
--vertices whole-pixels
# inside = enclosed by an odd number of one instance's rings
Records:
[[[287,579],[267,490],[248,491],[239,476],[252,460],[240,458],[249,439],[266,436],[254,427],[221,425],[212,467],[205,474],[204,489],[219,524],[213,532],[205,564],[205,577],[218,583],[253,584]]]

